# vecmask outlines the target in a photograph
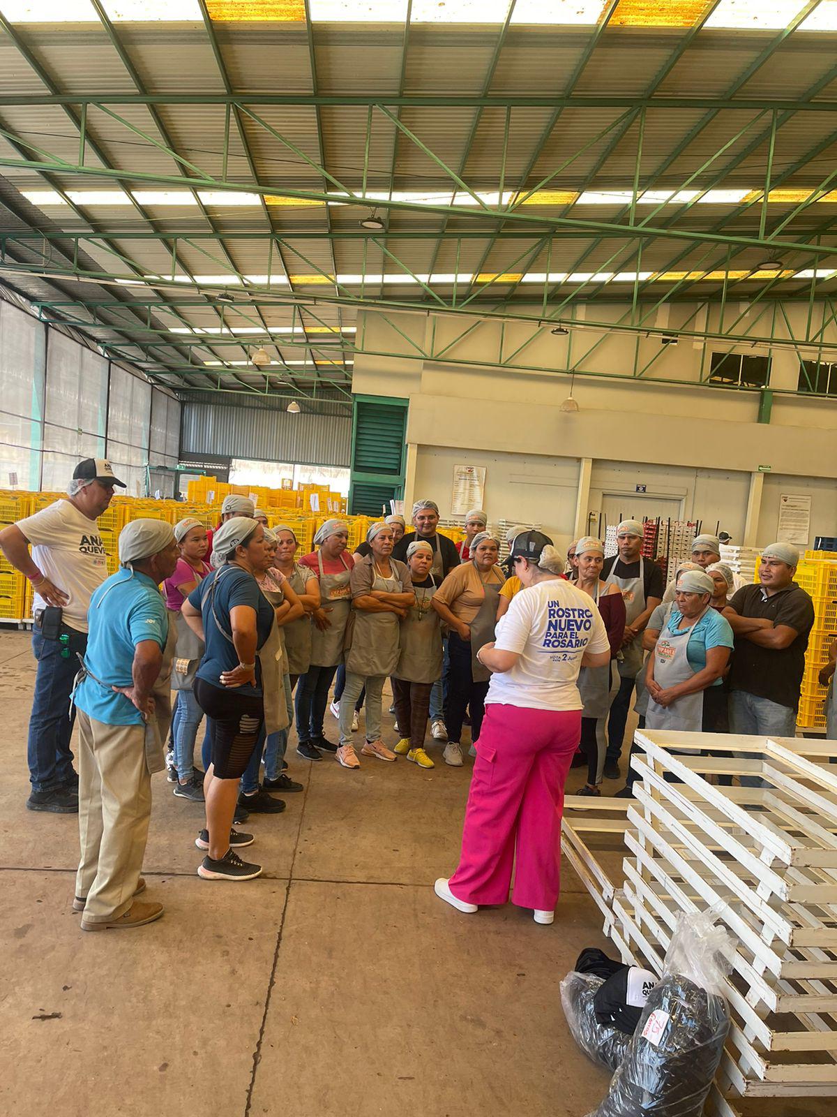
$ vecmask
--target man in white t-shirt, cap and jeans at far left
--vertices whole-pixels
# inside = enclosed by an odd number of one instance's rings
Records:
[[[35,590],[32,651],[38,674],[29,718],[30,811],[74,814],[78,775],[73,768],[69,710],[78,656],[87,648],[87,610],[93,591],[107,577],[107,556],[96,519],[110,504],[109,461],[85,458],[73,471],[68,499],[0,532],[0,548]],[[31,545],[31,554],[29,547]]]

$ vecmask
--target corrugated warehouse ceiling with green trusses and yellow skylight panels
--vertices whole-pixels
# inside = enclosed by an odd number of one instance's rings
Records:
[[[346,400],[364,308],[837,318],[837,0],[0,0],[0,280],[179,394]]]

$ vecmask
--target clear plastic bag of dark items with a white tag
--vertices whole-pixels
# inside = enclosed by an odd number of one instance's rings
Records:
[[[590,1117],[700,1117],[730,1027],[721,993],[730,951],[711,915],[681,916],[663,977]]]

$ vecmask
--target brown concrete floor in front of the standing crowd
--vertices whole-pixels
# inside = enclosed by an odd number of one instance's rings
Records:
[[[584,1117],[608,1076],[568,1034],[558,983],[605,947],[567,866],[551,927],[510,905],[462,916],[433,895],[455,867],[470,761],[289,750],[304,793],[251,817],[252,884],[202,881],[201,808],[154,777],[144,872],[164,917],[86,935],[70,909],[75,817],[35,814],[27,633],[0,630],[4,944],[0,1111],[57,1117]],[[336,726],[327,715],[327,731]],[[394,739],[387,718],[386,739]],[[583,782],[571,773],[570,787]],[[615,790],[613,787],[612,790]]]

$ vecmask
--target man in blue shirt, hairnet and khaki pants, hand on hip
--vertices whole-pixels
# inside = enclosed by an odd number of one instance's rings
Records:
[[[160,593],[177,562],[171,525],[133,521],[119,534],[119,562],[90,600],[75,696],[81,857],[73,907],[83,930],[141,927],[163,914],[162,904],[135,897],[145,889],[151,775],[165,766],[167,727],[157,723],[154,694],[165,695],[171,671]]]

